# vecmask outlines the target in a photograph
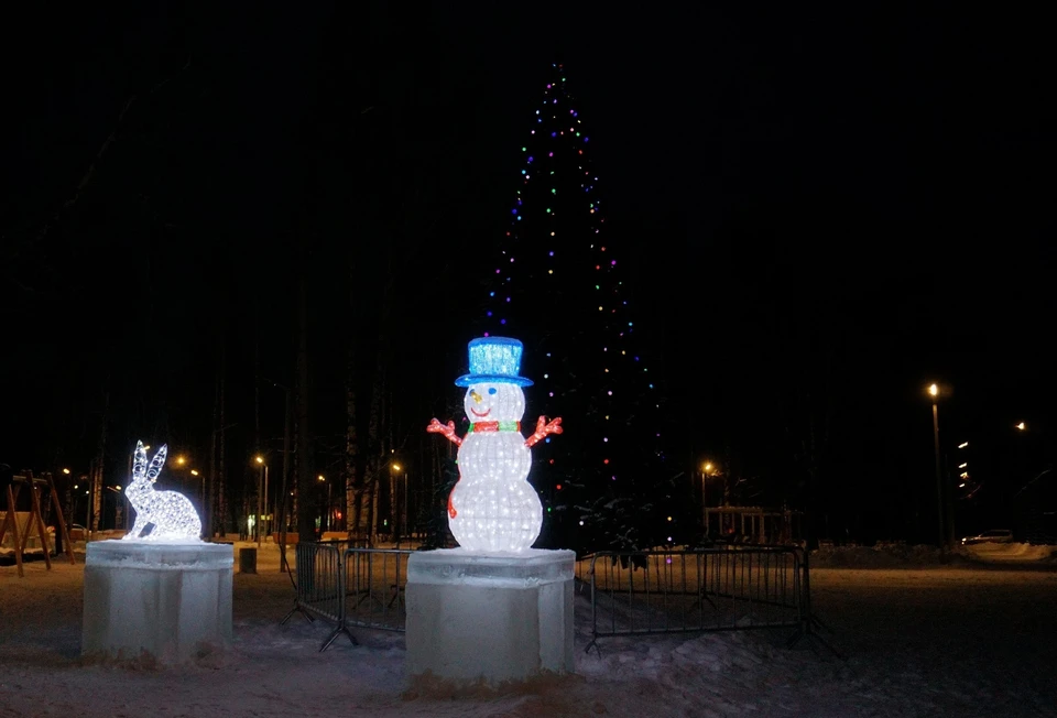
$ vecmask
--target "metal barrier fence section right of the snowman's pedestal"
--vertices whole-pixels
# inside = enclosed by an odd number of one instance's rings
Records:
[[[580,590],[590,591],[587,651],[600,638],[641,633],[788,628],[792,645],[810,632],[799,547],[601,552],[578,574]]]

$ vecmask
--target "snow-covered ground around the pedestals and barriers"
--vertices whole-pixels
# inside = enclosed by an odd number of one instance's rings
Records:
[[[1057,716],[1049,547],[811,558],[821,635],[843,660],[764,631],[608,639],[588,655],[578,597],[576,675],[459,692],[410,688],[402,634],[319,653],[328,627],[281,627],[293,590],[274,547],[235,576],[233,649],[178,668],[80,659],[83,564],[0,566],[0,716]]]

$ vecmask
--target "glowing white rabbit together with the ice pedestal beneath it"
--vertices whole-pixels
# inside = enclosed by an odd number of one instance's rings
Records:
[[[190,502],[154,490],[165,454],[163,446],[148,468],[137,445],[127,489],[132,531],[88,544],[83,655],[176,664],[231,645],[235,547],[203,542]]]

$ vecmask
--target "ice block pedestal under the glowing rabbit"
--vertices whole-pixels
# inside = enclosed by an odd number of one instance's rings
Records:
[[[173,664],[229,648],[233,565],[230,544],[90,542],[81,654]]]

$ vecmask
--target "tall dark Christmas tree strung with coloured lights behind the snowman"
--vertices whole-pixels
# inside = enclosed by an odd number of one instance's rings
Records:
[[[622,253],[607,235],[591,138],[563,66],[552,69],[521,148],[510,228],[487,269],[479,334],[524,342],[523,370],[536,382],[525,415],[560,416],[566,427],[560,442],[548,437],[533,454],[530,481],[545,507],[541,543],[678,542],[688,522],[672,513],[657,372],[639,342]]]

